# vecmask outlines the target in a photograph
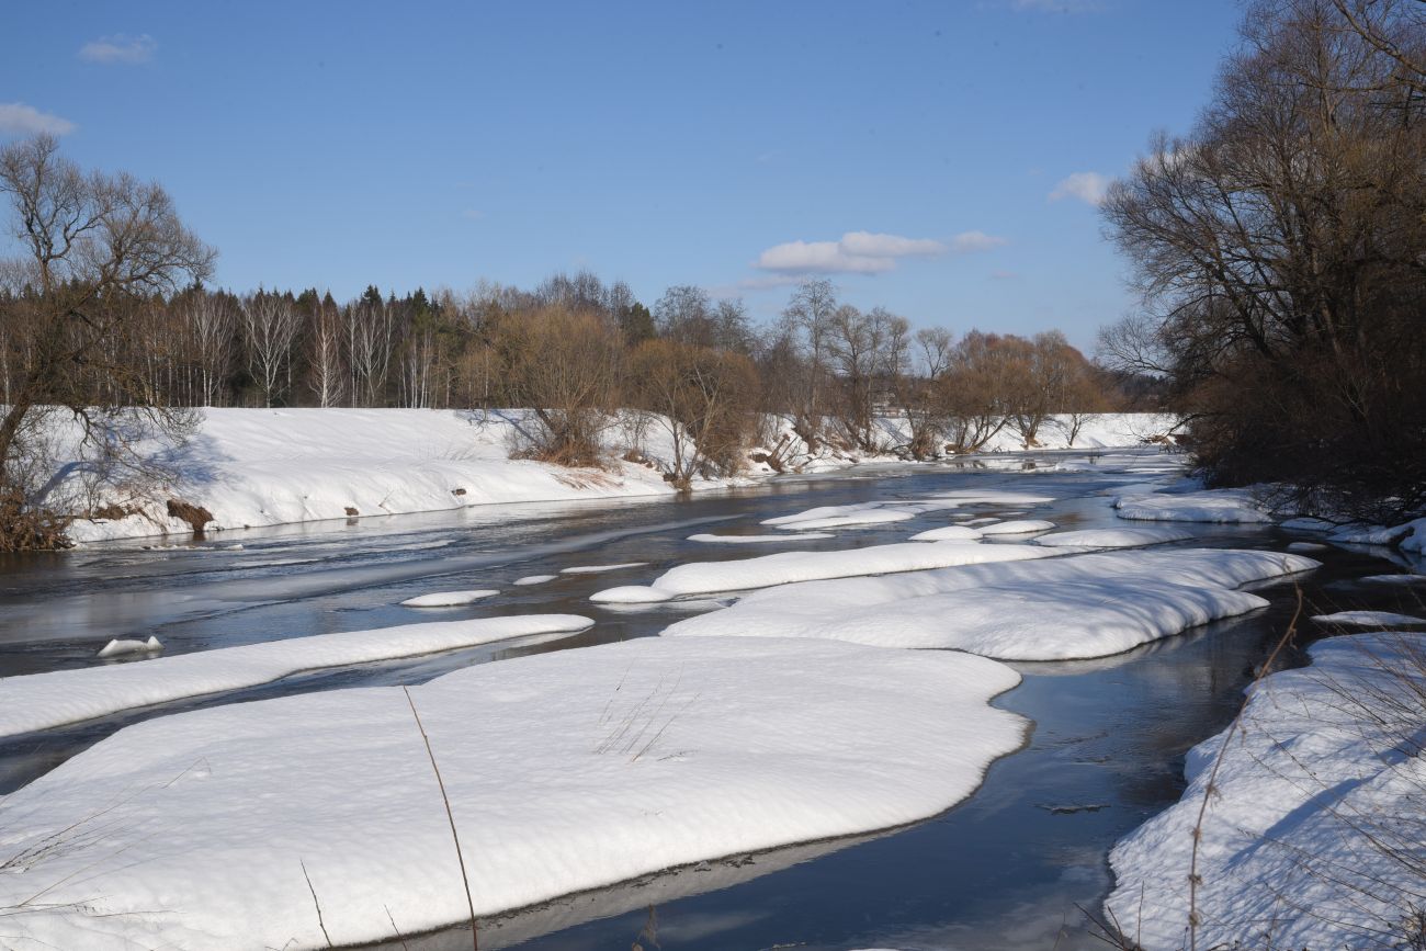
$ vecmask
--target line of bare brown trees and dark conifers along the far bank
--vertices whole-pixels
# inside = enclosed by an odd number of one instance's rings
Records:
[[[913,329],[827,279],[761,325],[700,287],[649,307],[589,272],[349,301],[215,289],[215,251],[160,185],[86,173],[44,135],[0,150],[0,194],[23,251],[0,267],[0,520],[41,506],[57,412],[120,455],[133,421],[180,433],[191,408],[520,406],[536,418],[525,455],[600,465],[616,411],[643,409],[670,429],[667,475],[687,485],[736,471],[769,416],[813,449],[925,459],[1004,428],[1032,446],[1051,413],[1145,402],[1060,332]]]

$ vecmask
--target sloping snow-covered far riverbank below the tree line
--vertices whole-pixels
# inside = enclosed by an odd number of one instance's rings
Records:
[[[173,503],[204,509],[207,530],[257,528],[459,509],[472,505],[556,502],[600,498],[665,496],[673,488],[659,461],[670,455],[663,426],[626,416],[606,432],[606,469],[566,469],[532,459],[511,459],[528,428],[529,411],[436,409],[205,409],[197,432],[183,446],[157,441],[134,446],[134,462],[103,478],[80,459],[63,462],[51,490],[53,505],[68,512],[114,506],[124,518],[77,519],[76,542],[155,535],[185,535],[190,522]],[[883,421],[888,445],[896,421]],[[1077,448],[1141,445],[1172,426],[1151,413],[1094,416],[1077,433]],[[816,472],[896,456],[864,456],[833,446],[809,452],[786,426],[779,462],[786,471]],[[1041,448],[1068,445],[1068,421],[1050,421]],[[73,443],[73,439],[68,439]],[[58,441],[66,445],[66,439]],[[1008,432],[987,451],[1021,448]],[[649,463],[626,462],[629,451]],[[717,489],[747,478],[776,475],[767,449],[750,453],[739,479],[694,480],[694,490]],[[81,455],[71,451],[70,455]],[[161,463],[163,478],[140,478],[147,463]],[[113,510],[113,509],[111,509]]]

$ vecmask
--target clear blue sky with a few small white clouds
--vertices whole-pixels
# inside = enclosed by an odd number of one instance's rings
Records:
[[[1092,204],[1185,131],[1232,0],[36,3],[0,141],[161,181],[235,289],[590,268],[776,314],[1088,346],[1134,307]]]

